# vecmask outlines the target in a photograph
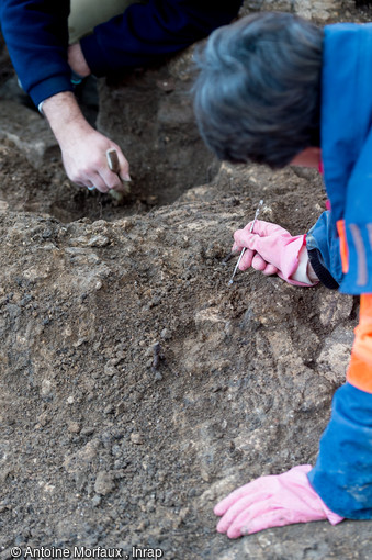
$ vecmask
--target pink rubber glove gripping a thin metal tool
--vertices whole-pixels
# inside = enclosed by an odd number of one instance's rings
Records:
[[[278,275],[290,284],[312,285],[312,282],[300,282],[292,277],[297,270],[301,249],[306,245],[305,235],[292,235],[277,224],[257,220],[252,233],[249,233],[251,222],[244,229],[234,234],[233,251],[246,247],[239,269],[253,267],[264,275]],[[307,257],[307,256],[306,256]]]

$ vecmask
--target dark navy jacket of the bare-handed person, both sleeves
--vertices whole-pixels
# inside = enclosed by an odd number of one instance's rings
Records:
[[[229,23],[243,0],[149,0],[98,25],[80,42],[95,76],[158,61]],[[71,91],[67,63],[68,0],[1,0],[0,21],[22,83],[34,103]]]

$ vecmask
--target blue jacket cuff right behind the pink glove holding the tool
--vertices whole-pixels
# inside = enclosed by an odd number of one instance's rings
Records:
[[[330,212],[324,212],[306,235],[308,260],[320,282],[337,290],[342,280],[339,238]]]

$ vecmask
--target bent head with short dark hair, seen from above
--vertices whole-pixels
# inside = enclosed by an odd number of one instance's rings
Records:
[[[198,58],[194,111],[219,159],[290,164],[319,142],[323,31],[289,13],[219,27]]]

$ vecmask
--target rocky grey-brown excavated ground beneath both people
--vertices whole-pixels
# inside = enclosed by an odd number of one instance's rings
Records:
[[[279,8],[316,19],[316,3]],[[352,2],[320,15],[370,19]],[[133,169],[117,204],[66,179],[45,122],[11,93],[2,49],[1,559],[14,546],[372,558],[370,522],[235,541],[215,531],[213,505],[227,492],[316,460],[358,301],[253,271],[228,285],[232,234],[260,199],[263,219],[300,234],[325,195],[316,172],[214,161],[190,110],[189,59],[99,85],[98,126]],[[91,119],[93,105],[86,99]]]

